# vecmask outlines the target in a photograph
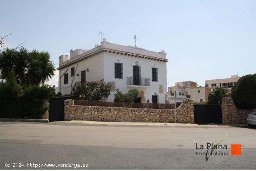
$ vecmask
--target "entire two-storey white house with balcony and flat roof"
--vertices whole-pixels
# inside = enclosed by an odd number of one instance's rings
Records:
[[[75,85],[104,79],[112,85],[106,101],[114,101],[116,89],[122,93],[138,89],[137,102],[165,103],[166,62],[164,51],[112,44],[103,38],[101,45],[89,51],[71,50],[70,58],[59,57],[59,89],[69,95]]]

